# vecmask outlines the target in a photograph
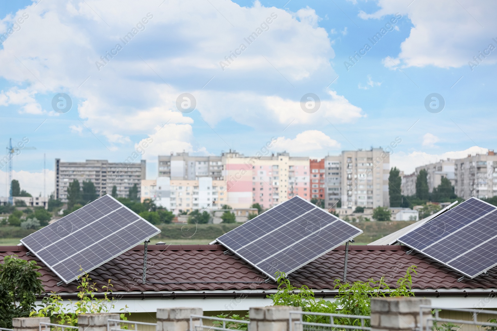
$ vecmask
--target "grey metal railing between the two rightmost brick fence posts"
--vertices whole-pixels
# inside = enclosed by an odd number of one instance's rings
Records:
[[[295,321],[292,318],[292,315],[299,315],[299,319]],[[330,323],[305,322],[304,315],[329,317]],[[349,321],[351,320],[351,325],[335,323],[335,318],[337,319],[337,322],[340,322],[340,319],[348,319]],[[292,311],[290,312],[290,319],[288,321],[288,326],[290,331],[298,330],[297,328],[295,328],[294,324],[302,325],[302,330],[304,331],[335,331],[335,330],[370,331],[371,327],[366,326],[366,320],[370,321],[371,317],[363,315],[345,315],[345,314],[334,314],[334,313],[313,313],[313,312]]]

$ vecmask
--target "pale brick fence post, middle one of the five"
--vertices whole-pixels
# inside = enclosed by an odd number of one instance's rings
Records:
[[[203,315],[202,308],[159,308],[157,309],[157,331],[188,331],[190,315]],[[200,325],[200,319],[192,320],[192,329]]]

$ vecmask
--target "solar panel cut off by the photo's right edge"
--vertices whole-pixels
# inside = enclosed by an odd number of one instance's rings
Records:
[[[474,278],[497,265],[497,207],[470,198],[398,241]]]

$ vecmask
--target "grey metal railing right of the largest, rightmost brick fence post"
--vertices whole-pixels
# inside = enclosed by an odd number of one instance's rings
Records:
[[[433,325],[431,323],[426,323],[426,331],[431,331],[434,330],[434,328],[437,327],[438,322],[446,322],[446,323],[454,323],[454,324],[460,324],[462,328],[463,325],[474,325],[478,327],[490,327],[493,330],[497,330],[497,323],[492,323],[492,322],[484,322],[484,321],[478,321],[478,314],[484,314],[484,315],[495,315],[495,318],[497,319],[497,311],[495,310],[483,310],[483,309],[469,309],[469,308],[445,308],[445,307],[435,307],[435,306],[425,306],[421,305],[419,306],[419,321],[420,323],[423,323],[423,309],[430,309],[433,311],[433,314],[430,313],[430,315],[426,318],[426,321],[432,321]],[[470,313],[471,314],[471,320],[456,320],[456,319],[447,319],[447,318],[441,318],[439,316],[440,311],[453,311],[453,312],[465,312],[465,313]],[[422,331],[422,325],[417,327],[417,330]]]

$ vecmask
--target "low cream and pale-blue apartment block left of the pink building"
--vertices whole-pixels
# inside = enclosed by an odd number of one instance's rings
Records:
[[[211,177],[173,180],[163,176],[153,181],[142,181],[142,188],[149,191],[150,199],[154,199],[156,205],[163,206],[175,214],[181,211],[189,213],[196,209],[216,210],[226,203],[225,182],[213,180]],[[147,192],[144,192],[143,196],[146,197],[145,193]]]

